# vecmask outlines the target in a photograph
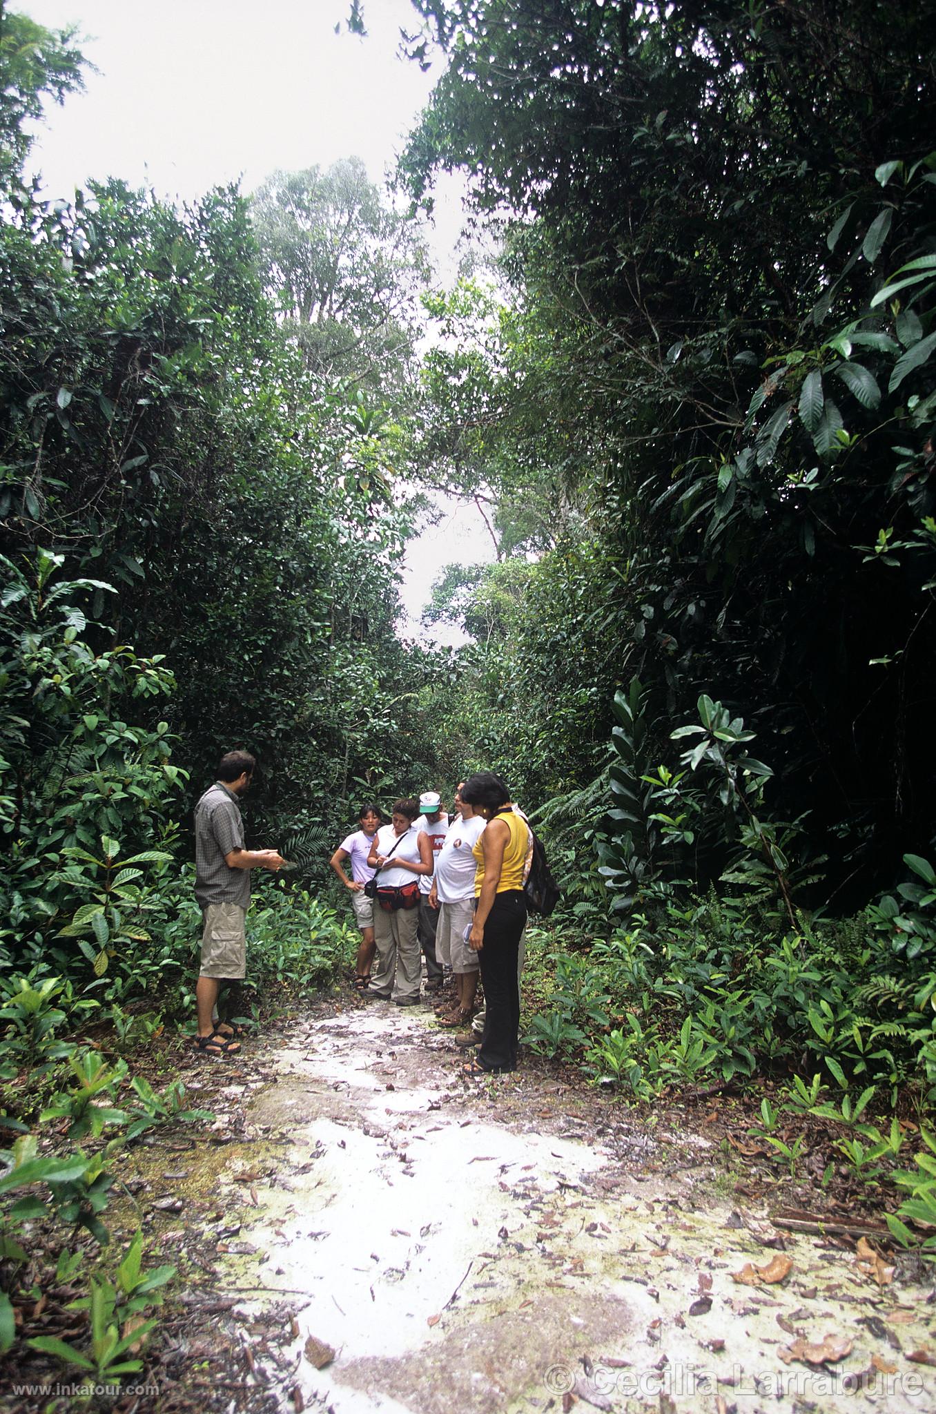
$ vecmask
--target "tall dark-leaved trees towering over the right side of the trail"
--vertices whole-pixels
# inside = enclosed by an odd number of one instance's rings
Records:
[[[534,395],[530,462],[591,506],[522,659],[554,660],[553,607],[591,598],[580,633],[649,684],[663,741],[700,691],[731,701],[778,809],[867,888],[935,823],[932,0],[416,10],[447,69],[414,194],[461,165],[513,214],[536,315],[496,424]],[[601,734],[592,659],[558,666]]]

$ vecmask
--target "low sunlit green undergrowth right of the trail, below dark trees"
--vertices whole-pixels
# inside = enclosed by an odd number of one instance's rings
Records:
[[[551,980],[527,1029],[547,1056],[578,1056],[640,1097],[677,1080],[756,1073],[871,1086],[919,1107],[936,1094],[936,877],[854,918],[792,932],[749,898],[681,901],[633,915],[587,953],[547,952]]]

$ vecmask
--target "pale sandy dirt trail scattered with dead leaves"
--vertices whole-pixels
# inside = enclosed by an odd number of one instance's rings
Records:
[[[247,1124],[283,1157],[218,1193],[250,1185],[228,1287],[288,1332],[253,1352],[284,1410],[936,1408],[908,1359],[936,1345],[926,1290],[739,1213],[704,1138],[611,1104],[595,1123],[542,1075],[462,1079],[421,1010],[308,1021],[271,1059]],[[785,1258],[782,1281],[732,1280]]]

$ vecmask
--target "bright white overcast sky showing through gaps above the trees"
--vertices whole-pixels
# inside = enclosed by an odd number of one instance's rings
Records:
[[[86,75],[85,93],[49,107],[37,133],[27,167],[52,198],[71,199],[89,177],[122,177],[191,201],[219,184],[240,180],[253,191],[276,168],[351,156],[380,181],[434,79],[396,54],[400,28],[416,28],[409,0],[368,0],[363,40],[344,28],[348,0],[8,4],[52,30],[76,25],[76,44],[99,71]],[[461,225],[457,184],[438,195],[433,247],[448,277]],[[403,631],[416,632],[445,564],[491,560],[491,551],[476,510],[448,509],[407,554]]]

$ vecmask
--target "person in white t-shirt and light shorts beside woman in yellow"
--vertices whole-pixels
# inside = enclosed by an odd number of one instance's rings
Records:
[[[448,826],[445,840],[435,860],[428,902],[438,906],[435,953],[451,966],[458,988],[452,1010],[440,1017],[440,1027],[464,1027],[471,1021],[478,991],[478,953],[465,942],[475,912],[475,857],[471,853],[488,823],[461,799],[461,785],[455,790],[458,814]]]

